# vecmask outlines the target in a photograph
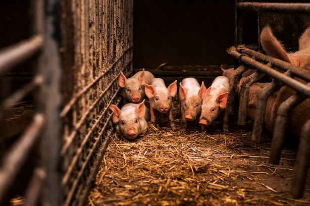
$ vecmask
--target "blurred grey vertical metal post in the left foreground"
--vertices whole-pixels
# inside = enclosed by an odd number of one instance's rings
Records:
[[[43,51],[44,63],[40,73],[44,77],[44,85],[40,91],[41,101],[45,103],[46,128],[43,134],[42,152],[45,154],[44,165],[47,172],[46,185],[42,205],[60,206],[61,192],[61,93],[60,93],[60,2],[45,0],[45,41]]]

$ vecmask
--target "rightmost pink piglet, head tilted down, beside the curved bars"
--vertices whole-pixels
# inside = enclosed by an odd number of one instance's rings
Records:
[[[207,126],[226,108],[228,88],[229,79],[224,76],[218,76],[207,89],[203,99],[199,121],[203,131],[206,131]],[[225,122],[223,123],[223,131],[228,131],[228,124]]]

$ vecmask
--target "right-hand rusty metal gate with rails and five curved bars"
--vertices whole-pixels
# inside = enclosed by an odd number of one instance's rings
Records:
[[[241,86],[238,124],[245,125],[250,86],[261,79],[264,75],[272,77],[272,83],[258,96],[252,141],[259,142],[262,134],[264,111],[268,97],[283,85],[297,91],[296,95],[291,96],[287,101],[279,106],[279,110],[277,112],[278,116],[275,119],[275,127],[269,155],[269,163],[273,164],[279,163],[286,129],[285,126],[288,121],[289,112],[292,108],[303,102],[306,98],[310,97],[310,71],[258,52],[261,50],[259,41],[260,31],[266,25],[271,25],[271,27],[275,28],[275,30],[280,30],[278,32],[285,33],[284,31],[288,30],[287,33],[288,36],[290,36],[291,41],[289,41],[290,44],[287,45],[287,47],[292,49],[295,45],[296,48],[296,45],[298,44],[298,37],[310,25],[309,10],[309,3],[258,3],[236,1],[235,43],[237,46],[229,48],[227,53],[236,59],[236,65],[240,62],[241,66],[239,66],[232,74],[226,109],[229,112],[233,112],[234,110],[233,108],[236,98],[234,91],[236,91],[237,81],[240,75],[249,67],[257,69],[257,72],[247,77]],[[243,26],[245,11],[255,11],[258,14],[257,45],[241,45],[243,42],[243,32],[245,31]],[[290,24],[291,22],[295,22],[295,24]],[[278,72],[273,68],[280,69],[284,73]],[[303,84],[293,79],[293,77],[298,77],[304,80],[307,84]],[[310,155],[309,140],[310,120],[305,123],[300,134],[300,145],[296,158],[295,175],[291,189],[291,194],[296,198],[302,197],[304,191]]]

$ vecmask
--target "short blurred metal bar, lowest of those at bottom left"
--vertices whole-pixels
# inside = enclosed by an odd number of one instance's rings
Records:
[[[42,187],[46,173],[42,168],[36,168],[29,183],[25,194],[25,202],[23,206],[37,206],[40,194],[42,193]]]

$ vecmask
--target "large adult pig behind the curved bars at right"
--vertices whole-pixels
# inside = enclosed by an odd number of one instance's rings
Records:
[[[310,70],[310,29],[308,28],[299,39],[299,51],[294,53],[288,53],[282,47],[280,42],[274,37],[269,27],[265,27],[260,35],[260,42],[262,48],[268,55],[275,58],[279,58],[283,61],[292,63],[295,66]],[[294,78],[300,82],[304,81]],[[243,80],[243,79],[242,79]],[[240,84],[242,82],[240,81]],[[251,85],[249,91],[249,103],[247,108],[248,116],[252,119],[256,116],[257,97],[261,93],[262,89],[269,83],[255,83]],[[273,93],[267,100],[264,123],[266,128],[273,132],[274,123],[277,115],[277,109],[281,103],[287,100],[290,96],[296,92],[283,86],[277,92]],[[287,128],[296,136],[300,135],[302,126],[310,118],[310,99],[306,99],[303,103],[300,103],[295,107],[289,116],[289,125]]]

